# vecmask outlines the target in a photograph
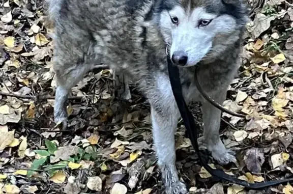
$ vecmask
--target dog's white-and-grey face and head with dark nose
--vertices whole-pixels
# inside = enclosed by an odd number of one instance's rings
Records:
[[[247,23],[241,0],[162,1],[159,28],[174,64],[194,66],[223,54]]]

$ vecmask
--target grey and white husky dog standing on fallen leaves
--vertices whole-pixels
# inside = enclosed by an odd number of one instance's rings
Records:
[[[194,74],[218,103],[239,68],[248,21],[241,0],[48,0],[55,24],[54,120],[66,126],[71,88],[94,64],[107,64],[134,80],[151,104],[154,145],[166,193],[187,193],[175,167],[174,132],[180,113],[167,72],[180,66],[187,102],[202,103],[202,142],[214,159],[236,161],[219,137],[221,112],[204,100]],[[195,72],[195,66],[198,66]]]

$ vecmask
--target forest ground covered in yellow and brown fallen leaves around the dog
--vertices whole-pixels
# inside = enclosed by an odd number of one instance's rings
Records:
[[[224,106],[221,138],[239,163],[212,168],[250,182],[290,176],[292,169],[293,5],[252,1],[242,66]],[[93,70],[67,106],[67,130],[55,127],[52,23],[43,1],[0,3],[0,193],[162,193],[148,102],[115,97],[111,70]],[[201,122],[200,106],[191,106]],[[198,164],[182,121],[177,168],[190,193],[292,193],[290,184],[261,191],[218,183]],[[209,155],[210,156],[210,155]]]

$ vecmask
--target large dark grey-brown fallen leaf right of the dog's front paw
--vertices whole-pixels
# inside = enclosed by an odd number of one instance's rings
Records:
[[[258,148],[251,148],[246,151],[244,163],[250,172],[260,173],[263,162],[265,162],[265,155],[262,150]]]

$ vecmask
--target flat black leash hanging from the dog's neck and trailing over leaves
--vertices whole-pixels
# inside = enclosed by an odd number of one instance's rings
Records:
[[[228,174],[226,174],[224,171],[220,169],[212,169],[208,162],[203,159],[201,156],[198,143],[197,143],[197,129],[200,128],[198,124],[195,124],[194,118],[192,114],[190,113],[188,106],[186,105],[186,102],[184,100],[183,94],[182,94],[182,87],[180,82],[180,76],[179,76],[179,69],[177,66],[173,65],[171,62],[170,57],[167,57],[167,63],[168,63],[168,72],[169,72],[169,78],[171,83],[171,88],[173,91],[173,95],[175,98],[175,101],[178,105],[181,117],[183,119],[184,125],[186,127],[186,130],[188,132],[190,141],[192,143],[192,146],[195,150],[195,152],[198,154],[199,162],[212,176],[215,176],[221,180],[228,181],[231,183],[236,183],[239,185],[242,185],[246,188],[250,189],[262,189],[269,186],[275,186],[282,183],[293,181],[293,178],[290,179],[284,179],[284,180],[276,180],[276,181],[269,181],[269,182],[263,182],[263,183],[249,183],[244,180],[240,180],[236,177],[232,177]]]

